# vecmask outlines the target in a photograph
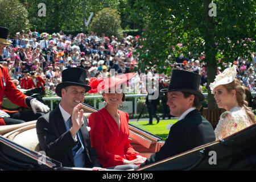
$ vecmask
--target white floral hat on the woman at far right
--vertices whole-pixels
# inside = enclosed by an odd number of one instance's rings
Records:
[[[210,84],[210,90],[216,88],[220,85],[226,85],[234,81],[234,78],[237,76],[236,67],[233,66],[232,68],[226,68],[222,73],[216,75],[214,82]]]

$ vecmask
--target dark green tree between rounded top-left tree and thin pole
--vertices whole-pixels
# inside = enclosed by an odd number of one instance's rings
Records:
[[[77,0],[27,0],[28,18],[32,29],[43,32],[66,32],[82,30],[82,2]],[[39,16],[39,3],[46,5],[46,16]]]

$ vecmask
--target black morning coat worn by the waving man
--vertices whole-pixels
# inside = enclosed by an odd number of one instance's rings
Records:
[[[96,151],[91,147],[88,122],[84,117],[84,125],[80,131],[84,142],[85,167],[101,167]],[[36,123],[40,147],[46,155],[63,164],[64,167],[74,167],[72,148],[76,146],[71,133],[67,131],[59,106],[50,113],[43,115]]]

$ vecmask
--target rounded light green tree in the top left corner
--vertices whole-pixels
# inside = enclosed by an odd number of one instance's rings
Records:
[[[0,25],[8,27],[13,36],[21,30],[30,28],[26,8],[18,0],[0,0]]]

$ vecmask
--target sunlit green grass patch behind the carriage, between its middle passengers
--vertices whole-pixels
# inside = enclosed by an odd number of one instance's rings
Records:
[[[166,126],[169,123],[176,123],[177,119],[168,119],[168,120],[160,120],[158,124],[156,124],[156,121],[153,121],[153,125],[148,125],[148,121],[134,121],[129,122],[131,125],[137,126],[142,130],[148,131],[154,135],[157,135],[158,137],[162,137],[163,140],[166,140],[167,135],[169,134],[168,129],[166,129]]]

